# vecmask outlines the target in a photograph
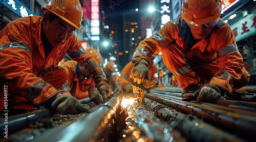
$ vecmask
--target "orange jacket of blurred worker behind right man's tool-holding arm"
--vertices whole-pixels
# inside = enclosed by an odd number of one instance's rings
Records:
[[[122,69],[121,76],[118,76],[117,81],[121,84],[122,87],[124,87],[127,82],[131,82],[129,73],[131,72],[133,66],[134,64],[129,62]],[[155,73],[157,73],[157,67],[155,64],[153,64],[152,67],[148,70],[148,77],[158,80],[158,78],[154,77]]]

